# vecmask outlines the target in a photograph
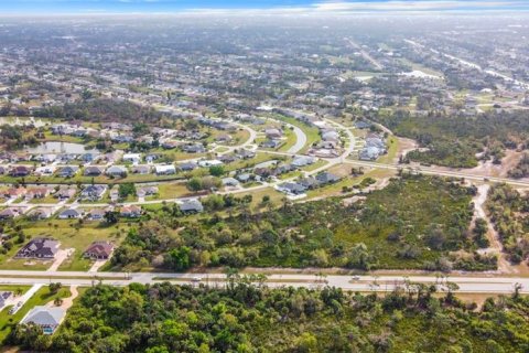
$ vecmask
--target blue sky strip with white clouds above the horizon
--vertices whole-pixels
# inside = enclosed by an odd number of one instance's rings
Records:
[[[11,13],[529,11],[529,0],[0,0]]]

